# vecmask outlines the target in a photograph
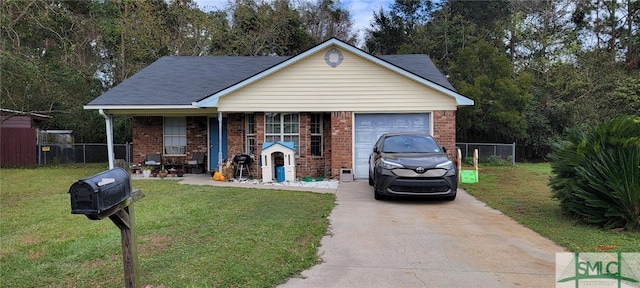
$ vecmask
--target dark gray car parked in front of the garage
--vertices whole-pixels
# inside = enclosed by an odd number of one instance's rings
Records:
[[[374,197],[440,197],[456,199],[458,175],[445,148],[429,134],[387,133],[369,156],[369,185]]]

